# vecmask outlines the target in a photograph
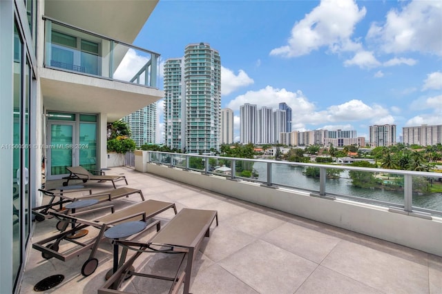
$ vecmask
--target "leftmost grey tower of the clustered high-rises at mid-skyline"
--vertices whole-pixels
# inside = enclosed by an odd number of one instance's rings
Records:
[[[244,104],[240,106],[240,143],[256,144],[258,110],[256,104]]]

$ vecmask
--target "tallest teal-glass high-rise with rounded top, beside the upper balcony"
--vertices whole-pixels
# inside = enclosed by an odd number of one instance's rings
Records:
[[[208,43],[192,43],[164,63],[165,144],[186,153],[220,149],[221,59]]]

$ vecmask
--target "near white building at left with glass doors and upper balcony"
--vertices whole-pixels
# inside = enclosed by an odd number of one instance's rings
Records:
[[[106,168],[107,124],[164,96],[159,55],[131,46],[156,4],[0,1],[2,293],[19,291],[44,170]]]

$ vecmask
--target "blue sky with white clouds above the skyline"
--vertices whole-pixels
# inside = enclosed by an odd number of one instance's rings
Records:
[[[396,124],[396,137],[442,124],[441,1],[160,0],[134,44],[164,62],[199,42],[220,52],[236,140],[244,103],[286,102],[293,130],[367,139],[373,124]]]

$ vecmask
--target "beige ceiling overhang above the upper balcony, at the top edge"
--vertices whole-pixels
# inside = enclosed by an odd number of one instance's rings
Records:
[[[133,43],[158,0],[46,0],[45,15],[112,39]]]

